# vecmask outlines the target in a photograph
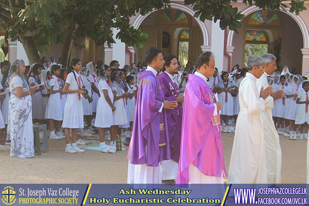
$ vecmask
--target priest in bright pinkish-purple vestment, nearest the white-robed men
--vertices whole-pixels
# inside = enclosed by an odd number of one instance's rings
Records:
[[[211,52],[196,61],[184,92],[177,184],[224,183],[227,177],[220,131],[221,103],[215,102],[207,78],[215,71]]]

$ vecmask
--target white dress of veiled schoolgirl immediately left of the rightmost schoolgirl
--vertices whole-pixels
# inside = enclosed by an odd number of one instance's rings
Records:
[[[290,88],[290,94],[299,94],[303,88],[297,85],[294,85],[292,88]],[[296,103],[297,97],[289,98],[289,101],[285,107],[284,111],[284,119],[287,120],[296,120],[296,115],[298,111],[298,107],[300,104]]]

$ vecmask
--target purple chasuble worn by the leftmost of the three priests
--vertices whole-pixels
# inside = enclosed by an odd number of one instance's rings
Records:
[[[165,110],[159,112],[164,96],[154,73],[145,71],[139,75],[128,158],[131,164],[158,167],[159,162],[171,159]]]

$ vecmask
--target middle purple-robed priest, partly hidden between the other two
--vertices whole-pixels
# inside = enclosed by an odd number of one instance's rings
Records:
[[[164,61],[163,70],[165,71],[158,76],[162,86],[164,100],[177,101],[178,106],[175,109],[165,110],[171,159],[161,162],[161,175],[162,182],[175,183],[180,155],[183,95],[179,93],[177,82],[174,80],[174,75],[178,74],[179,67],[176,56],[164,56]]]

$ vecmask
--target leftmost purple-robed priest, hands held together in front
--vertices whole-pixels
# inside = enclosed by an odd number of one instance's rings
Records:
[[[149,48],[145,60],[148,66],[139,74],[140,85],[128,153],[129,184],[161,183],[159,163],[171,158],[165,109],[174,109],[178,105],[176,101],[164,100],[156,77],[165,63],[162,51],[156,47]]]

